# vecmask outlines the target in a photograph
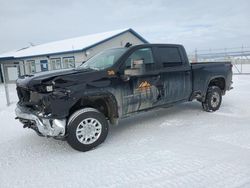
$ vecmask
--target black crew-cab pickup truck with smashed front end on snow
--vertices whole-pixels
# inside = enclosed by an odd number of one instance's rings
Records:
[[[16,116],[40,136],[88,151],[109,124],[141,111],[194,99],[216,111],[231,84],[230,62],[190,64],[182,45],[108,49],[74,69],[19,78]]]

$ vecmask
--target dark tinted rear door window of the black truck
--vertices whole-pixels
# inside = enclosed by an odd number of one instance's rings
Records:
[[[176,47],[158,47],[159,60],[163,67],[178,66],[182,64],[179,49]]]

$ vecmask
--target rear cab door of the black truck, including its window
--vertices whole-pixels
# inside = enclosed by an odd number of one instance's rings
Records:
[[[188,100],[191,94],[191,68],[178,46],[157,46],[157,60],[161,66],[164,102]]]

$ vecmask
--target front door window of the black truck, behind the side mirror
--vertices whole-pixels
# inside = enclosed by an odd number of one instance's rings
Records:
[[[142,48],[134,51],[126,60],[126,69],[133,68],[135,62],[143,61],[146,71],[154,68],[154,58],[151,48]]]

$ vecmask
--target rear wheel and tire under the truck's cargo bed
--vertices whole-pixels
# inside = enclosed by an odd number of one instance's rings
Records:
[[[220,108],[222,101],[221,89],[217,86],[211,86],[207,90],[206,99],[202,102],[203,110],[213,112]]]

